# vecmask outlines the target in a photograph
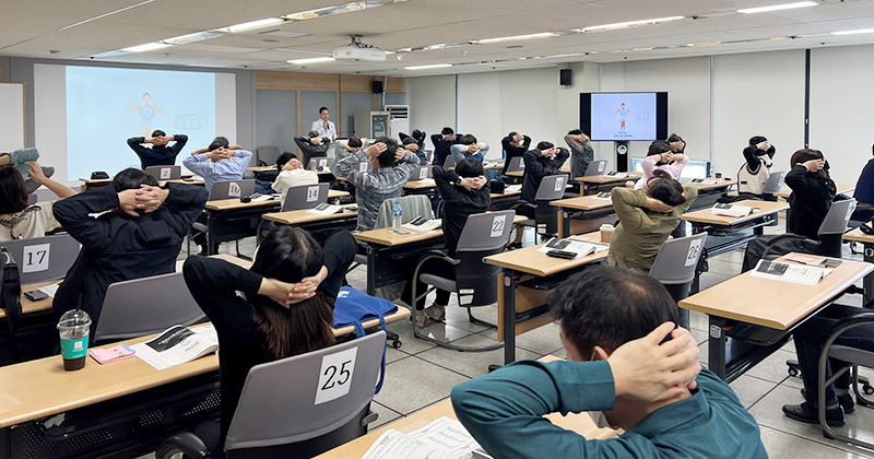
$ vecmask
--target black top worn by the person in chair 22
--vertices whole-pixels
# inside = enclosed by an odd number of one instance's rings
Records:
[[[440,191],[444,200],[444,237],[446,237],[446,248],[449,256],[456,255],[458,239],[468,222],[468,216],[483,213],[492,205],[492,198],[488,183],[479,190],[465,190],[457,185],[461,177],[453,170],[447,170],[440,166],[432,168],[434,181]]]

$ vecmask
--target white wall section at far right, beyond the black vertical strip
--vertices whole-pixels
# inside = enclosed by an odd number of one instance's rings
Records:
[[[855,184],[874,143],[874,46],[811,51],[811,142],[838,184]]]

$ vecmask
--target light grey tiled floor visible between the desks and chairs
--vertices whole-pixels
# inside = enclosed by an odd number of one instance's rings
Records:
[[[766,228],[766,233],[783,231],[782,219],[779,226]],[[252,254],[253,242],[243,242],[240,248],[244,254]],[[223,245],[222,251],[226,250],[232,251],[233,245]],[[846,258],[851,257],[847,246],[845,251]],[[712,257],[710,272],[702,276],[701,287],[706,289],[740,273],[742,258],[743,252],[740,250]],[[364,269],[359,268],[353,272],[349,281],[354,287],[364,290]],[[853,304],[853,301],[858,299],[848,296],[841,303]],[[454,296],[452,303],[456,304]],[[496,307],[483,308],[479,315],[486,319],[495,319]],[[495,342],[494,330],[469,323],[466,314],[459,308],[448,308],[447,316],[446,325],[432,325],[427,331],[441,340],[460,344]],[[706,317],[693,313],[692,327],[695,338],[701,343],[701,362],[706,363]],[[373,427],[445,399],[458,382],[480,376],[486,373],[489,364],[499,364],[503,361],[501,351],[462,353],[414,339],[408,323],[392,323],[389,329],[401,336],[403,346],[400,350],[388,351],[386,382],[373,404],[373,409],[379,413],[379,420]],[[554,325],[521,334],[517,345],[520,358],[538,358],[547,354],[565,356],[557,327]],[[799,403],[802,400],[799,393],[801,380],[790,377],[784,364],[786,360],[793,358],[794,354],[794,346],[790,343],[731,384],[741,402],[758,421],[768,455],[772,459],[874,458],[874,451],[826,439],[818,426],[798,423],[783,416],[780,408],[784,403]],[[874,409],[858,408],[854,414],[847,416],[845,431],[874,442]]]

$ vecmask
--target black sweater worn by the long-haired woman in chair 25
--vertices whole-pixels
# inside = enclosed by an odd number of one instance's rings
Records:
[[[335,274],[342,279],[355,254],[355,239],[347,232],[344,233],[343,237],[330,237],[324,244],[323,263],[328,268],[329,279]],[[253,322],[252,306],[237,296],[237,291],[249,296],[258,294],[263,278],[227,261],[208,257],[187,259],[182,275],[191,296],[218,334],[222,427],[220,448],[216,449],[221,450],[224,448],[227,429],[237,410],[249,369],[273,361],[264,350]],[[319,291],[327,298],[334,299],[340,285],[341,282],[322,282]]]

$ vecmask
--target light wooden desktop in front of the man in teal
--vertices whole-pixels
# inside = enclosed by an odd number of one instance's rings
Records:
[[[545,356],[540,358],[541,362],[553,362],[558,358],[553,356]],[[354,440],[338,446],[330,451],[316,456],[316,459],[349,459],[359,458],[367,452],[367,449],[382,435],[386,431],[393,428],[405,434],[417,431],[433,421],[440,417],[457,419],[456,412],[452,410],[452,401],[446,398],[428,408],[416,411],[415,413],[392,421],[391,423],[379,427],[374,432],[368,432],[367,435],[355,438]],[[592,422],[592,419],[587,413],[570,413],[563,416],[560,413],[552,413],[544,416],[553,424],[568,431],[576,432],[588,439],[607,439],[615,437],[617,431],[612,428],[599,428]]]

